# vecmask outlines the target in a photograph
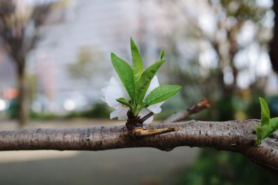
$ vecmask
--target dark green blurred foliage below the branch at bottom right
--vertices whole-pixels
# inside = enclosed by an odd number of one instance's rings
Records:
[[[243,155],[218,150],[202,150],[197,161],[189,168],[177,184],[277,184],[274,173]]]

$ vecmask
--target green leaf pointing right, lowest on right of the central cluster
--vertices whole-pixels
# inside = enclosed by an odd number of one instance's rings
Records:
[[[156,87],[145,99],[145,106],[161,103],[177,94],[179,90],[181,90],[179,85],[161,85]]]

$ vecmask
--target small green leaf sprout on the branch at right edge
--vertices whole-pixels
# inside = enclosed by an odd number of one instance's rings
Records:
[[[259,98],[261,103],[261,125],[256,125],[256,146],[261,141],[273,134],[278,129],[278,117],[270,118],[270,110],[268,104],[263,98]]]

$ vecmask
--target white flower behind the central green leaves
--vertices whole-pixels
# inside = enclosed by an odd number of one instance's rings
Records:
[[[156,87],[159,86],[159,82],[157,76],[154,76],[152,82],[149,84],[149,89],[147,89],[147,95],[154,90]],[[126,100],[130,100],[129,95],[126,93],[126,89],[120,82],[119,78],[112,77],[109,82],[106,82],[106,87],[101,89],[101,100],[106,102],[110,107],[114,108],[115,110],[111,112],[110,118],[118,118],[119,120],[126,120],[127,116],[126,113],[129,110],[129,107],[123,105],[122,103],[117,102],[117,98],[125,98]],[[149,112],[154,112],[154,114],[158,114],[161,112],[161,105],[162,103],[156,103],[154,105],[150,105],[147,108],[142,109],[139,112],[139,116],[142,118],[143,116],[147,115]],[[148,118],[144,123],[151,123],[154,119],[154,116]]]

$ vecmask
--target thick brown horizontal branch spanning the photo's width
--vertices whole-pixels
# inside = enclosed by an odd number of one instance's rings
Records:
[[[187,121],[146,125],[148,130],[175,127],[177,131],[134,139],[122,126],[67,129],[26,129],[0,132],[0,150],[109,150],[153,147],[172,150],[177,146],[212,147],[240,152],[262,166],[278,170],[276,132],[254,146],[254,125],[259,120]]]

